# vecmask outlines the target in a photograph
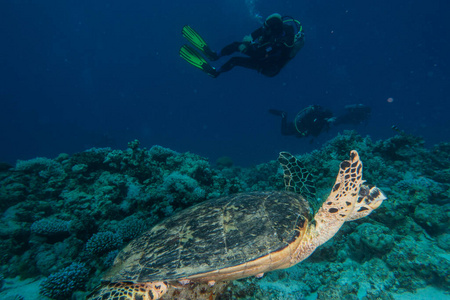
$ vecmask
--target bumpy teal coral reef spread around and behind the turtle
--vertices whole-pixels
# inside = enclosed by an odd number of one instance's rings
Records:
[[[405,134],[374,142],[344,132],[298,156],[319,199],[351,149],[361,155],[365,179],[388,200],[368,218],[344,224],[306,261],[233,282],[223,299],[369,300],[426,286],[450,291],[450,144],[428,149]],[[198,155],[145,149],[139,141],[123,151],[18,161],[0,168],[0,274],[46,276],[41,294],[70,299],[96,286],[118,250],[166,216],[215,197],[283,188],[275,160],[241,168],[222,158],[213,167]]]

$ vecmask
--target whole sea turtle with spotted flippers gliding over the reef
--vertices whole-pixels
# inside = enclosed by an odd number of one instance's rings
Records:
[[[386,199],[362,180],[358,153],[340,164],[330,195],[314,212],[315,189],[300,162],[280,153],[286,191],[229,195],[177,213],[133,240],[87,299],[215,299],[226,282],[291,267],[345,221]],[[311,200],[312,201],[312,200]]]

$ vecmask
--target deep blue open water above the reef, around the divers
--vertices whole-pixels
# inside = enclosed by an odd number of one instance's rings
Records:
[[[447,1],[25,1],[0,4],[0,161],[54,157],[139,139],[239,165],[318,148],[344,129],[374,140],[392,125],[450,141]],[[213,79],[178,56],[190,24],[214,49],[279,12],[305,47],[266,78],[235,68]],[[221,60],[215,64],[219,66]],[[387,99],[394,101],[389,103]],[[335,114],[372,107],[367,125],[314,140],[280,135],[278,108]]]

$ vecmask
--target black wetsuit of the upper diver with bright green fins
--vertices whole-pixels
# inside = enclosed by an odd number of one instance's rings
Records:
[[[239,52],[241,45],[245,45],[245,50],[242,53],[249,57],[236,56],[230,58],[219,68],[219,73],[240,66],[273,77],[292,58],[291,50],[295,39],[292,26],[283,24],[283,30],[279,34],[273,34],[270,30],[260,27],[251,34],[251,37],[253,42],[234,42],[222,49],[220,56],[231,55]]]

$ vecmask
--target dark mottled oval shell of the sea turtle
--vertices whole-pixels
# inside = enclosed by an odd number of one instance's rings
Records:
[[[302,238],[310,220],[308,203],[290,192],[245,193],[206,201],[132,241],[104,279],[175,281],[243,264]]]

